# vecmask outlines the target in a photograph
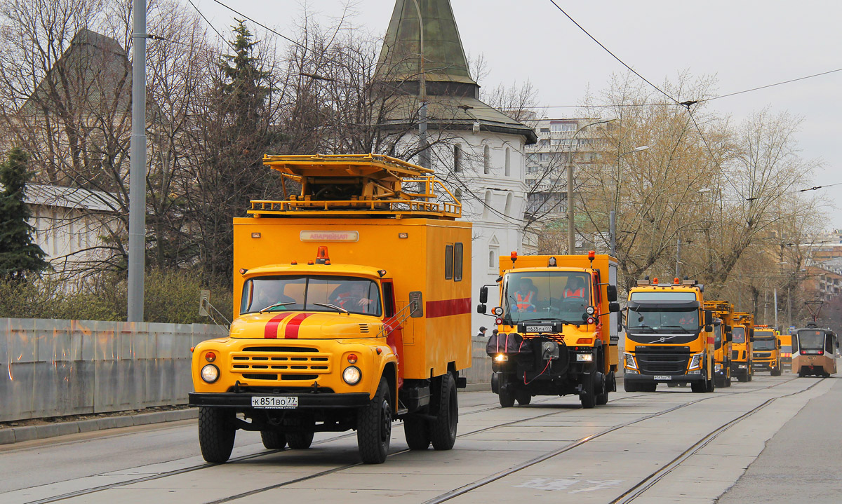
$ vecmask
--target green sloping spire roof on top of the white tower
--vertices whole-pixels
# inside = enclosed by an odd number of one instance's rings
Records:
[[[477,84],[468,71],[465,50],[450,0],[417,0],[424,25],[424,76],[429,82]],[[417,81],[421,74],[420,26],[413,0],[397,0],[386,30],[378,76],[386,81]]]

